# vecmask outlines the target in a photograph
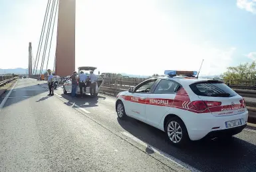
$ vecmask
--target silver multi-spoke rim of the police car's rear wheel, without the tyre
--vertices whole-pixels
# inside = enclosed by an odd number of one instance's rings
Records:
[[[182,128],[178,122],[172,121],[167,128],[169,139],[173,143],[179,143],[182,140]]]

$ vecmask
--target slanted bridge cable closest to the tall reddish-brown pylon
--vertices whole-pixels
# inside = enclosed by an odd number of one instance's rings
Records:
[[[52,25],[52,21],[53,21],[53,10],[55,9],[55,1],[56,0],[53,0],[53,3],[51,5],[51,13],[50,13],[49,24],[48,24],[48,28],[47,28],[47,35],[46,35],[46,38],[45,38],[45,45],[44,45],[44,50],[43,50],[43,57],[42,57],[42,62],[41,62],[40,74],[43,73],[43,66],[45,64],[45,54],[46,54],[46,51],[47,51],[49,33],[50,33],[50,30],[51,30],[51,25]]]

